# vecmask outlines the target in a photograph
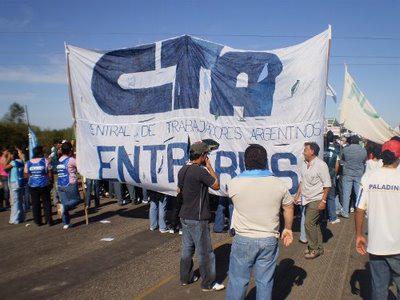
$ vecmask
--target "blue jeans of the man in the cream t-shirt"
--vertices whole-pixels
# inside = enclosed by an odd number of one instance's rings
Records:
[[[254,269],[256,298],[271,299],[274,273],[279,254],[276,237],[248,238],[235,235],[229,262],[229,284],[226,299],[244,299]]]

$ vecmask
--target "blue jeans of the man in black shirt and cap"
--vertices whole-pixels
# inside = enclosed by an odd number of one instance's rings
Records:
[[[181,219],[182,254],[180,262],[180,281],[190,283],[193,279],[193,255],[199,260],[201,287],[210,289],[216,277],[215,255],[211,246],[211,235],[208,220],[196,221]]]

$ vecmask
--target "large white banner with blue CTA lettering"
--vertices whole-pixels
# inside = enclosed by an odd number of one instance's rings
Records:
[[[304,142],[322,148],[330,37],[271,51],[192,36],[108,52],[66,46],[79,172],[174,195],[188,141],[210,138],[219,195],[253,143],[295,192]]]

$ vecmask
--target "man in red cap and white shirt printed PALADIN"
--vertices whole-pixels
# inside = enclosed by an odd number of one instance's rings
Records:
[[[393,279],[400,299],[400,142],[382,146],[383,167],[366,173],[356,211],[356,250],[369,253],[372,299],[387,299]],[[363,235],[368,212],[368,242]]]

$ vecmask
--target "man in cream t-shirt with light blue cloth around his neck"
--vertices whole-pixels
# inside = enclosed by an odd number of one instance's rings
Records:
[[[283,209],[285,246],[293,241],[293,198],[285,183],[267,169],[267,151],[252,144],[244,153],[246,171],[228,183],[234,210],[226,299],[244,299],[253,271],[257,299],[271,299],[279,247],[279,213]]]

